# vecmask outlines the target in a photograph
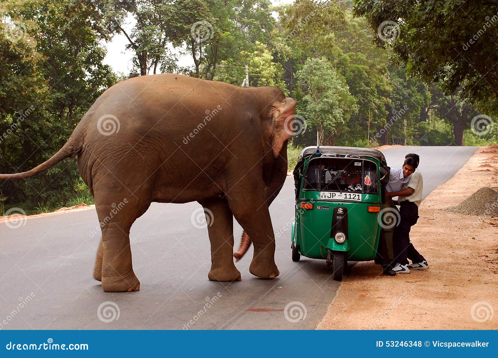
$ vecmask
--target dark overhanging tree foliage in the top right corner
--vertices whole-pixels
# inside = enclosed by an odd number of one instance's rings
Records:
[[[447,94],[461,87],[461,96],[472,101],[488,100],[493,95],[498,98],[498,71],[494,69],[498,62],[496,1],[354,3],[356,14],[365,16],[381,34],[375,38],[376,43],[386,47],[392,42],[393,61],[410,75],[426,83],[439,83]]]

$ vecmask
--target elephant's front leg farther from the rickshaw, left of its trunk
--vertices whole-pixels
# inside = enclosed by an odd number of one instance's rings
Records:
[[[241,273],[234,264],[234,217],[226,199],[215,198],[200,202],[206,213],[211,241],[211,281],[240,281]],[[208,211],[209,210],[209,211]]]

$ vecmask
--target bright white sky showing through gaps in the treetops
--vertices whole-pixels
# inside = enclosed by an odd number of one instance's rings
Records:
[[[281,3],[291,3],[294,0],[271,0],[274,5]],[[134,18],[128,16],[124,23],[124,30],[129,34],[129,30],[134,25]],[[114,72],[128,74],[131,71],[131,59],[134,56],[132,50],[127,50],[125,46],[129,43],[124,34],[117,34],[113,37],[111,42],[104,44],[107,48],[107,55],[104,59],[104,63],[110,65]],[[179,55],[179,65],[180,66],[193,66],[194,61],[190,54]]]

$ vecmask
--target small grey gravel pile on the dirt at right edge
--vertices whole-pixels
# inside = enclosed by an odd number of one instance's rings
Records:
[[[498,217],[498,193],[489,187],[482,187],[449,210],[462,214]]]

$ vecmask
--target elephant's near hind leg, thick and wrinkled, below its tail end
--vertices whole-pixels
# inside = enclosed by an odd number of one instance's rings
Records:
[[[136,197],[143,197],[141,194],[136,194]],[[136,197],[126,198],[121,193],[97,190],[95,192],[95,206],[102,228],[102,289],[106,292],[131,292],[140,289],[140,282],[133,272],[131,262],[129,230],[150,203],[141,202]],[[98,260],[99,257],[96,268]]]

